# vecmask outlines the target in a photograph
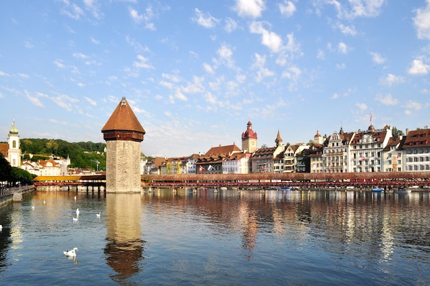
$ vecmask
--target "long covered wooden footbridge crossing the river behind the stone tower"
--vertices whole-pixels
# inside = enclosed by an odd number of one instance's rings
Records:
[[[430,186],[430,171],[378,173],[251,173],[251,174],[190,174],[142,175],[142,187],[168,188],[269,188],[297,186],[300,188],[397,188],[399,186]],[[38,176],[34,186],[106,188],[105,175]],[[429,189],[430,190],[430,189]]]

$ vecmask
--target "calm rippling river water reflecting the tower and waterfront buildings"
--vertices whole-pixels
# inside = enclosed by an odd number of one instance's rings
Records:
[[[0,223],[1,285],[430,285],[428,192],[36,191]]]

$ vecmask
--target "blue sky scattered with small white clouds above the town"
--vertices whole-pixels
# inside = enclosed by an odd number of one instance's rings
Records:
[[[123,96],[152,156],[430,125],[430,0],[16,0],[0,27],[0,141],[103,142]]]

